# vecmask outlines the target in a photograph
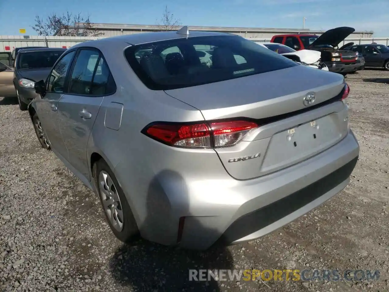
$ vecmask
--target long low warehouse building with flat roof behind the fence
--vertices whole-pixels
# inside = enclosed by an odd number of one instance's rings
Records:
[[[91,23],[92,27],[102,32],[104,37],[113,37],[116,35],[128,35],[141,32],[158,32],[165,30],[164,26],[160,25],[126,25],[115,23]],[[178,30],[177,26],[175,30]],[[227,32],[240,35],[246,38],[271,38],[273,35],[284,33],[307,33],[321,35],[323,30],[309,30],[300,28],[253,28],[253,27],[222,27],[222,26],[189,26],[189,30],[210,31],[210,32]],[[362,39],[373,37],[373,31],[356,30],[349,38]]]

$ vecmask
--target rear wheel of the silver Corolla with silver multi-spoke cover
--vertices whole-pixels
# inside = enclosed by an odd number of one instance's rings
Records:
[[[138,226],[123,190],[103,159],[93,165],[93,177],[109,227],[117,239],[130,243],[138,237]]]

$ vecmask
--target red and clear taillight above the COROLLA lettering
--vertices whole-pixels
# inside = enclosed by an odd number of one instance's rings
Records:
[[[211,148],[235,145],[257,127],[256,123],[250,121],[220,121],[209,124],[158,123],[142,132],[171,146]]]

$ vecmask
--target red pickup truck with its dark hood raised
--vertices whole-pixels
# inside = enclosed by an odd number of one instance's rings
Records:
[[[321,52],[321,60],[331,72],[347,75],[363,69],[357,62],[358,55],[349,50],[338,49],[338,45],[355,31],[352,27],[342,26],[327,30],[321,36],[308,34],[275,35],[271,42],[284,44],[299,51],[309,49]]]

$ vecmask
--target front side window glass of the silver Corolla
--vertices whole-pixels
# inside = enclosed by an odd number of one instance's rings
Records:
[[[63,86],[65,84],[66,74],[69,70],[70,63],[72,63],[75,51],[72,51],[65,56],[55,65],[49,75],[47,82],[47,92],[63,92]]]

